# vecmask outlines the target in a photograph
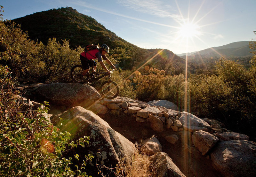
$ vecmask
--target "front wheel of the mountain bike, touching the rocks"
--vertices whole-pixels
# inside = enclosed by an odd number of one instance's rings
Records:
[[[119,94],[119,87],[114,81],[105,81],[100,86],[100,94],[108,99],[116,98]]]

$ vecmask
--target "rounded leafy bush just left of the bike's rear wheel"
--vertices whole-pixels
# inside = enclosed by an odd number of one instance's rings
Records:
[[[30,71],[37,80],[43,83],[70,81],[70,69],[80,63],[79,55],[83,51],[81,47],[73,50],[69,48],[69,42],[64,40],[62,44],[55,38],[49,39],[47,45],[42,42],[38,45],[38,63]]]

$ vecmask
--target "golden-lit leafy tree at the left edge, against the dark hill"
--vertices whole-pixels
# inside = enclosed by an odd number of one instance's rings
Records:
[[[37,53],[36,42],[8,20],[0,21],[0,31],[0,64],[11,68],[13,77],[26,76]]]

